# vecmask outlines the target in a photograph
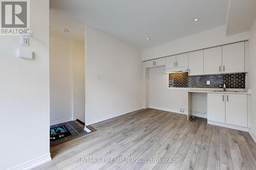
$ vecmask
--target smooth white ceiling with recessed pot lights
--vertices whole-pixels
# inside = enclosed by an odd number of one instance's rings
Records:
[[[227,13],[228,0],[50,0],[50,31],[83,39],[89,25],[145,49],[223,26]]]

